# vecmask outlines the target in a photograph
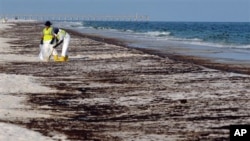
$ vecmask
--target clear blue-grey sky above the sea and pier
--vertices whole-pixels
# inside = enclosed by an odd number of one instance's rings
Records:
[[[250,0],[0,0],[0,13],[138,14],[151,21],[250,22]]]

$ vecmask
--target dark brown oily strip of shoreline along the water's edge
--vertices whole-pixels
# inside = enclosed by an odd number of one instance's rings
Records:
[[[185,55],[185,54],[176,54],[176,53],[170,53],[170,52],[162,52],[160,49],[148,49],[148,48],[136,48],[133,46],[128,46],[126,45],[125,41],[119,40],[119,39],[114,39],[114,38],[108,38],[104,36],[97,36],[97,35],[90,35],[90,34],[85,34],[85,33],[80,33],[77,32],[73,29],[67,29],[71,33],[74,33],[76,35],[79,35],[84,38],[89,38],[93,39],[96,41],[100,42],[105,42],[108,44],[114,44],[126,48],[131,48],[131,49],[136,49],[143,51],[148,54],[152,55],[158,55],[163,58],[169,58],[175,61],[182,61],[182,62],[187,62],[187,63],[193,63],[197,65],[201,65],[210,69],[216,69],[216,70],[221,70],[221,71],[226,71],[226,72],[234,72],[234,73],[240,73],[240,74],[250,74],[250,64],[248,63],[242,63],[240,61],[225,61],[224,63],[216,61],[217,59],[212,58],[212,57],[198,57],[194,55]],[[175,49],[172,49],[171,52]],[[192,50],[192,49],[191,49]]]

